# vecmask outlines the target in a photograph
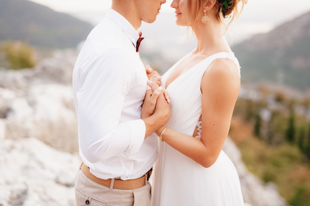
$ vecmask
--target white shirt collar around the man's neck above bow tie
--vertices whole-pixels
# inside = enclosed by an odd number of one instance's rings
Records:
[[[136,46],[137,40],[139,39],[139,34],[125,17],[123,17],[117,11],[109,8],[106,12],[106,18],[114,21]]]

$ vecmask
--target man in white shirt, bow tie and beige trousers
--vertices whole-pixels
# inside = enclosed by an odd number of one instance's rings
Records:
[[[77,206],[150,205],[154,131],[166,124],[170,109],[162,87],[146,95],[148,78],[136,30],[141,21],[155,21],[162,3],[112,0],[77,58],[73,93],[83,160],[75,182]],[[144,115],[148,105],[155,111]]]

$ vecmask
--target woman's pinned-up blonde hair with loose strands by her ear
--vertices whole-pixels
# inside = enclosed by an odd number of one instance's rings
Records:
[[[200,15],[199,11],[200,11],[200,8],[203,4],[203,1],[205,1],[205,0],[196,0],[196,8],[192,8],[192,5],[195,5],[195,4],[193,4],[193,2],[191,2],[191,1],[195,1],[195,0],[187,0],[189,10],[194,12],[194,17],[192,17],[191,15],[188,16],[188,20],[189,20],[188,26],[193,26],[194,21]],[[241,3],[240,10],[238,8],[239,3]],[[244,5],[247,3],[248,3],[248,0],[231,0],[229,2],[230,7],[225,9],[225,11],[223,12],[223,10],[222,10],[223,0],[216,0],[216,2],[214,4],[214,9],[215,9],[214,18],[217,19],[220,23],[224,24],[225,18],[231,17],[230,21],[226,25],[226,30],[227,30],[228,26],[234,21],[234,19],[239,17],[240,13],[242,12],[242,10],[244,8]],[[225,13],[225,16],[224,16],[224,13]]]

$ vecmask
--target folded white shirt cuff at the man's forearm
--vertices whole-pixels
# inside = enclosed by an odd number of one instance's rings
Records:
[[[128,121],[126,124],[130,128],[130,143],[124,155],[132,156],[139,151],[144,141],[146,126],[143,120]]]

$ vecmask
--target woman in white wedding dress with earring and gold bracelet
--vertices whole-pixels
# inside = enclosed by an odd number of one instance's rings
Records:
[[[197,48],[161,79],[171,117],[156,131],[154,206],[243,206],[235,166],[222,151],[240,89],[240,66],[223,34],[247,0],[173,0],[176,24],[192,28]],[[152,89],[158,85],[149,83]]]

